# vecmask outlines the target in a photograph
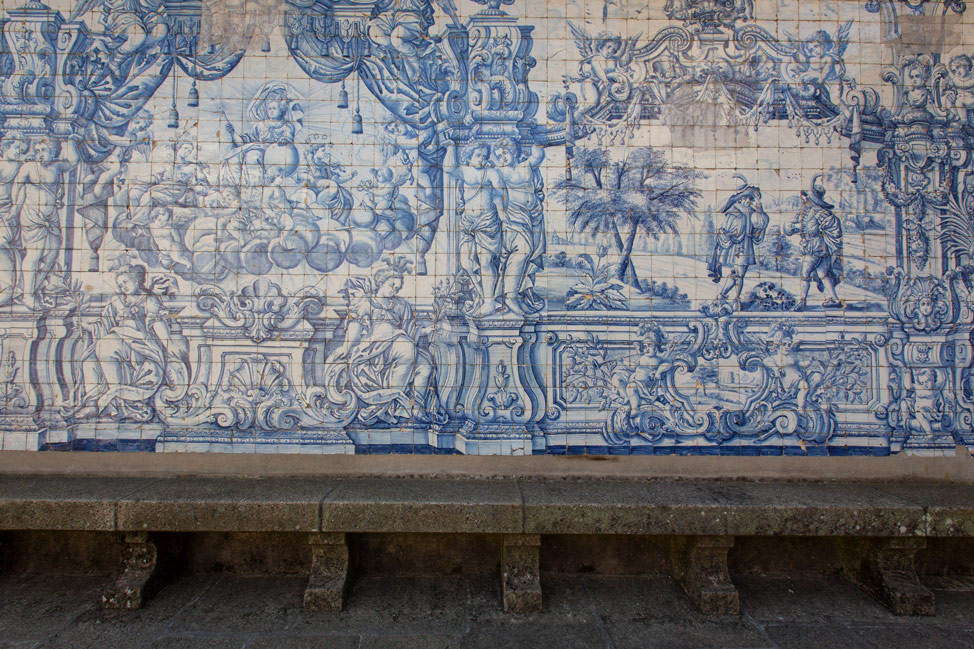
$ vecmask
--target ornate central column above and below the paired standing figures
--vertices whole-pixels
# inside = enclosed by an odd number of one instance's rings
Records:
[[[475,0],[487,7],[466,23],[469,35],[465,115],[455,145],[534,142],[532,118],[538,98],[528,87],[533,27],[500,9],[508,0]],[[456,159],[456,158],[453,158]],[[448,183],[446,205],[456,230],[463,205],[457,183]],[[456,239],[451,244],[459,246]],[[451,259],[459,248],[450,251]],[[510,311],[466,316],[460,336],[463,378],[458,402],[463,413],[456,448],[466,453],[531,454],[532,431],[545,415],[537,320]]]

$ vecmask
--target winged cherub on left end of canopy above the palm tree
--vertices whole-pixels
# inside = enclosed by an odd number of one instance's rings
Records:
[[[610,89],[613,99],[626,99],[631,85],[636,82],[631,78],[630,65],[636,58],[636,43],[642,34],[624,39],[617,34],[602,32],[593,37],[584,27],[571,22],[568,27],[582,55],[578,76],[569,77],[569,80],[582,84],[582,99],[586,106],[601,106]]]

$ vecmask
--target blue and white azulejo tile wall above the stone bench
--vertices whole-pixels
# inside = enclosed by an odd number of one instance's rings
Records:
[[[0,448],[974,446],[960,0],[4,0]]]

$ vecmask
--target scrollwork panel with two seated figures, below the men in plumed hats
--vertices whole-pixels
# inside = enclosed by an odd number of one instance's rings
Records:
[[[801,443],[825,444],[835,434],[834,404],[865,404],[877,345],[865,338],[840,338],[810,347],[796,340],[794,325],[779,323],[765,339],[736,321],[715,318],[695,323],[690,334],[671,336],[658,324],[643,325],[635,349],[589,335],[569,341],[560,380],[566,403],[593,405],[607,412],[604,435],[611,443],[633,437],[659,442],[666,436],[711,442],[791,436]],[[699,360],[698,360],[699,359]],[[740,401],[726,396],[708,410],[688,394],[694,377],[710,399],[707,384],[722,382],[715,363],[734,359],[740,370]],[[727,379],[728,376],[724,376]],[[724,385],[722,395],[726,395]]]

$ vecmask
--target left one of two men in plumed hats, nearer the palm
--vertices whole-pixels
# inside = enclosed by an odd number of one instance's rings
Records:
[[[714,283],[719,283],[725,270],[728,271],[718,299],[726,300],[734,291],[734,299],[740,302],[744,275],[755,263],[755,246],[764,241],[768,228],[768,215],[761,206],[761,190],[745,180],[744,186],[728,199],[721,212],[724,220],[717,228],[714,254],[707,270]]]

